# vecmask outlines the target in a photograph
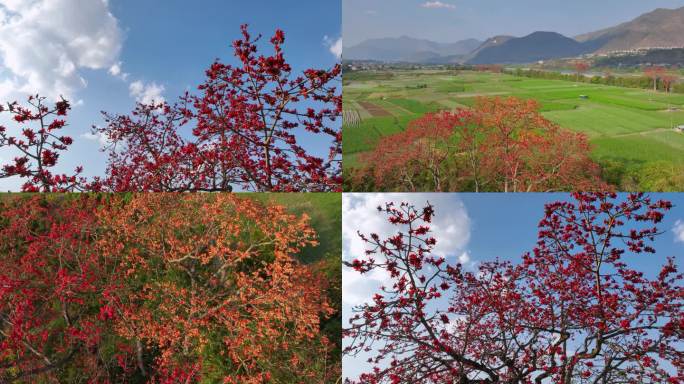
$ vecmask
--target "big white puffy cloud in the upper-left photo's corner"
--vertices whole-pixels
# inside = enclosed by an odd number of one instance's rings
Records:
[[[72,97],[82,70],[110,69],[121,44],[106,0],[0,0],[0,96]]]

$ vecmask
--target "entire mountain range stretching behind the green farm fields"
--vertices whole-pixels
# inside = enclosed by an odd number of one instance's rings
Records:
[[[408,36],[371,39],[345,47],[345,60],[421,64],[517,64],[643,48],[684,47],[684,7],[656,9],[614,27],[567,37],[538,31],[523,37],[495,36],[436,43]]]

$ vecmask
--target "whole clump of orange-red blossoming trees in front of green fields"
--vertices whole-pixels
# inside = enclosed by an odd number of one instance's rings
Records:
[[[429,113],[380,139],[345,180],[349,190],[594,190],[605,187],[585,135],[561,129],[534,100],[479,98]]]

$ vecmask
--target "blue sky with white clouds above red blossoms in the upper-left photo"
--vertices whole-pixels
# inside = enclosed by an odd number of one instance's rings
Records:
[[[83,164],[86,175],[102,175],[106,154],[95,137],[87,138],[102,123],[100,111],[125,113],[136,98],[173,101],[194,89],[214,59],[233,61],[230,44],[243,23],[268,38],[283,29],[295,70],[338,61],[339,1],[0,0],[0,101],[27,91],[68,96],[74,107],[65,133],[75,143],[57,170]],[[327,154],[328,141],[302,144]],[[12,156],[0,151],[0,164]],[[0,190],[19,185],[0,180]]]

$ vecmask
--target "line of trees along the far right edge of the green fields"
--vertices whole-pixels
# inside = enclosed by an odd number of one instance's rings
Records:
[[[534,79],[548,79],[548,80],[564,80],[572,82],[581,82],[589,84],[603,84],[612,85],[616,87],[624,88],[639,88],[639,89],[653,89],[653,79],[648,76],[615,76],[610,72],[606,72],[603,76],[584,76],[576,73],[560,73],[555,71],[542,71],[538,69],[522,69],[517,68],[515,70],[507,69],[504,73],[518,76],[518,77],[528,77]],[[665,91],[665,83],[661,80],[657,80],[657,88],[659,91]],[[684,93],[684,84],[672,84],[670,91],[673,93]]]

